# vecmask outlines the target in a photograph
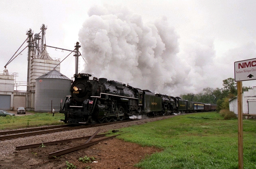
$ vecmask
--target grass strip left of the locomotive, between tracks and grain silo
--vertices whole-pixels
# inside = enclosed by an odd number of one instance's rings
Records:
[[[59,120],[64,118],[64,114],[60,113],[55,113],[54,116],[52,116],[52,113],[35,113],[34,115],[26,116],[1,116],[0,130],[38,127],[43,125],[60,125],[64,123],[59,122]]]

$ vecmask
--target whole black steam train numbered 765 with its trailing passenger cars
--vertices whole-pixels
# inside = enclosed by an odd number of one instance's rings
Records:
[[[64,97],[60,113],[69,124],[95,124],[179,112],[216,111],[216,104],[191,102],[180,97],[154,94],[107,78],[74,74],[71,95]]]

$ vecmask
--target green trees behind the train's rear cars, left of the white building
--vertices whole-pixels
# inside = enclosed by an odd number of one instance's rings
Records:
[[[235,79],[228,78],[223,80],[223,88],[204,88],[198,94],[188,93],[187,95],[180,95],[183,100],[214,103],[217,104],[217,111],[220,109],[229,109],[229,99],[237,96],[237,83]],[[243,92],[248,91],[250,87],[243,86]]]

